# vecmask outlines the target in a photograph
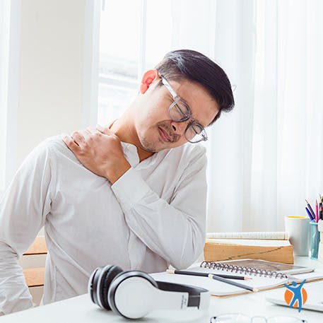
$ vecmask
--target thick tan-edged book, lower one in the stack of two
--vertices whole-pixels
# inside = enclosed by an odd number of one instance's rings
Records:
[[[283,239],[206,239],[204,245],[204,259],[206,261],[216,262],[245,258],[293,264],[293,245],[290,245],[289,240]]]

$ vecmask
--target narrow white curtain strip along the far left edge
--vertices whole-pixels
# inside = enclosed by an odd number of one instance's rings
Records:
[[[0,197],[5,187],[10,1],[0,1]]]

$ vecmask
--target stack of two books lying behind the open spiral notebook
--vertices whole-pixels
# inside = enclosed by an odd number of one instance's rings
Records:
[[[207,233],[204,245],[206,262],[246,258],[293,264],[293,245],[290,245],[288,233]]]

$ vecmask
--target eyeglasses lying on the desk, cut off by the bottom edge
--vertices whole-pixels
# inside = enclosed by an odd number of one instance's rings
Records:
[[[223,314],[211,317],[210,323],[307,323],[305,319],[297,319],[292,316],[273,316],[268,319],[263,316],[249,317],[241,313]]]

